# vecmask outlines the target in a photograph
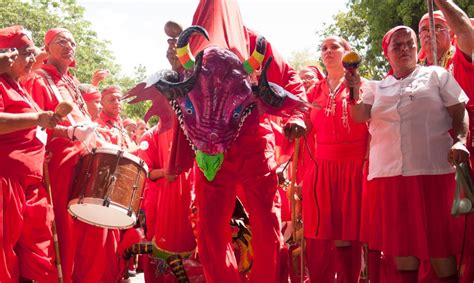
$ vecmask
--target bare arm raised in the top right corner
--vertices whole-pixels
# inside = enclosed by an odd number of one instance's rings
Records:
[[[452,0],[435,0],[436,6],[443,12],[449,28],[457,37],[459,49],[471,60],[474,48],[474,29],[467,14]]]

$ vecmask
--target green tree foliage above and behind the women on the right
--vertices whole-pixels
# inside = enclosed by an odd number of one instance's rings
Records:
[[[474,15],[472,0],[456,4],[470,17]],[[319,32],[321,38],[340,35],[363,55],[361,73],[367,78],[380,79],[388,64],[382,56],[382,37],[392,27],[406,25],[418,31],[418,21],[427,12],[425,0],[349,0],[348,11],[334,17],[335,23]]]

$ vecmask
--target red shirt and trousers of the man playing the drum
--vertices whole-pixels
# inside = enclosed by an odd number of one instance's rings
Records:
[[[26,82],[38,105],[44,110],[54,111],[59,103],[49,79],[56,85],[61,96],[59,99],[74,102],[73,111],[62,125],[90,122],[86,105],[77,89],[78,81],[69,73],[61,76],[50,64],[44,64]],[[48,165],[64,282],[100,282],[107,260],[104,249],[106,230],[73,219],[67,212],[76,166],[86,148],[79,141],[52,138],[48,141],[47,150],[52,153]]]

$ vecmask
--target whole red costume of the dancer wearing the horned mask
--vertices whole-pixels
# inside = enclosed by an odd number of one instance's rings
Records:
[[[211,37],[210,42],[201,37],[192,38],[190,49],[194,53],[215,44],[230,49],[242,59],[248,58],[249,50],[255,48],[257,35],[243,26],[236,1],[200,1],[193,25],[204,27]],[[267,43],[263,64],[270,56],[273,62],[267,72],[268,80],[304,96],[296,72]],[[252,227],[254,258],[250,281],[279,280],[282,236],[280,212],[274,205],[277,191],[275,138],[269,121],[261,117],[259,124],[256,119],[256,113],[247,118],[212,182],[201,172],[196,174],[199,259],[207,282],[240,282],[229,226],[239,184],[245,193],[241,199],[245,199]]]

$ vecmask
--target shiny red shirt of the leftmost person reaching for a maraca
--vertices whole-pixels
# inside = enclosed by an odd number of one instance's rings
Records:
[[[7,75],[0,75],[0,112],[31,113],[39,109],[26,91]],[[43,175],[44,145],[36,138],[37,127],[0,135],[2,176]]]

